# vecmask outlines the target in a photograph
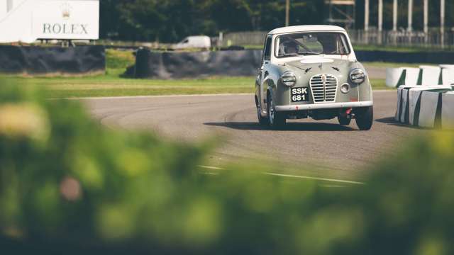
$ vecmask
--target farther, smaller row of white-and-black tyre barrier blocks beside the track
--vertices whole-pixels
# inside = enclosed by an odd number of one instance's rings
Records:
[[[391,88],[399,86],[454,85],[454,65],[439,66],[421,65],[419,68],[387,68],[386,85]]]

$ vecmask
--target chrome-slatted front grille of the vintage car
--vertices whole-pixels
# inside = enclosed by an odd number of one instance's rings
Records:
[[[314,103],[329,103],[336,101],[338,79],[331,74],[317,74],[311,78],[311,92]]]

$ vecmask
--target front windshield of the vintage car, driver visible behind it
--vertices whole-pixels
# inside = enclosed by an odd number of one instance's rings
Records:
[[[276,57],[299,55],[348,55],[347,38],[343,33],[297,33],[276,39]]]

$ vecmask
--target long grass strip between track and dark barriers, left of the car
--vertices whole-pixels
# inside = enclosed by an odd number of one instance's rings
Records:
[[[156,96],[253,93],[253,77],[207,79],[125,79],[117,74],[95,77],[8,77],[17,84],[45,86],[52,97]]]

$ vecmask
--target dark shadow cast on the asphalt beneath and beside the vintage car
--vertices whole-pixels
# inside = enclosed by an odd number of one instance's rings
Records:
[[[235,130],[271,130],[266,126],[253,122],[204,123],[204,125]],[[333,123],[287,123],[279,131],[355,131],[355,129]]]

